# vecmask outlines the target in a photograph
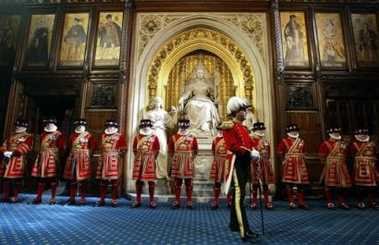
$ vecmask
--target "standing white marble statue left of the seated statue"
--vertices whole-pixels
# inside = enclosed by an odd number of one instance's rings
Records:
[[[163,109],[163,101],[161,97],[155,97],[152,99],[145,117],[152,120],[154,133],[159,140],[160,149],[157,158],[157,177],[167,178],[168,171],[166,130],[168,128],[173,128],[175,122],[170,114]]]

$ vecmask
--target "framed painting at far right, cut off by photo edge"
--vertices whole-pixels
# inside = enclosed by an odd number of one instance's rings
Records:
[[[351,22],[358,66],[379,66],[379,35],[376,14],[353,13]]]

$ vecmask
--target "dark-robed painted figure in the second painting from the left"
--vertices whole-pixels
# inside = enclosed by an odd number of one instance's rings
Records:
[[[49,60],[49,29],[42,19],[32,34],[26,60],[28,64],[47,64]]]

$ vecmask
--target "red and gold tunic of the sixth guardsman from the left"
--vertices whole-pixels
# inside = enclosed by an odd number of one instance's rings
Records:
[[[191,134],[174,134],[168,144],[172,156],[171,176],[190,179],[195,175],[194,159],[198,152],[197,139]]]

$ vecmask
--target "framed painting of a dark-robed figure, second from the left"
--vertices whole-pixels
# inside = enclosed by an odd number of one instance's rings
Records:
[[[26,66],[45,67],[48,65],[54,20],[54,14],[37,14],[31,16],[24,58]]]

